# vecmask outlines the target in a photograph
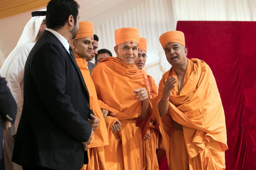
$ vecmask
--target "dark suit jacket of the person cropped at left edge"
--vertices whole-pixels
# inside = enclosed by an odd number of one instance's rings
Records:
[[[12,97],[10,89],[6,86],[5,79],[0,76],[0,159],[3,156],[4,121],[14,124],[17,114],[17,104]]]

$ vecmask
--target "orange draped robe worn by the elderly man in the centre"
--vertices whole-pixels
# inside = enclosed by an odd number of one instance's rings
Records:
[[[122,130],[118,134],[122,141],[123,155],[118,156],[124,157],[124,169],[140,169],[142,137],[141,130],[134,126],[134,120],[141,114],[142,102],[136,100],[133,90],[145,87],[150,91],[147,75],[135,64],[126,65],[118,58],[106,57],[93,69],[91,77],[101,101],[100,107],[116,113],[115,117],[122,124]],[[149,112],[151,108],[149,101]],[[145,124],[148,125],[150,119],[151,114],[142,122],[147,122]],[[143,135],[147,129],[148,126],[144,126]]]

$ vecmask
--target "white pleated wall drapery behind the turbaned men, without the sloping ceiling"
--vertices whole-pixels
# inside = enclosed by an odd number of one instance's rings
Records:
[[[158,85],[170,69],[159,36],[176,30],[177,21],[256,21],[256,0],[145,0],[119,16],[94,27],[100,37],[99,48],[114,55],[114,32],[120,27],[138,27],[148,40],[148,58],[144,69]],[[188,49],[189,51],[189,49]]]

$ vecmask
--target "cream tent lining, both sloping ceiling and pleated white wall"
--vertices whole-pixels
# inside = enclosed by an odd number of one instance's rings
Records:
[[[100,38],[99,49],[107,48],[114,56],[115,30],[121,27],[138,27],[140,36],[148,40],[148,59],[144,69],[156,80],[157,85],[163,73],[171,67],[166,61],[159,36],[176,30],[177,21],[256,21],[256,0],[109,1],[98,0],[92,4],[88,0],[77,0],[81,6],[80,21],[89,20],[94,23],[94,33]],[[35,10],[43,8],[45,7]],[[30,13],[26,13],[25,19],[24,15],[0,19],[0,66],[15,47],[31,17]]]

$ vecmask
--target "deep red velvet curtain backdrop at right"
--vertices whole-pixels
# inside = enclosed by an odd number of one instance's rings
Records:
[[[256,169],[256,22],[178,21],[188,58],[204,60],[225,111],[227,170]]]

